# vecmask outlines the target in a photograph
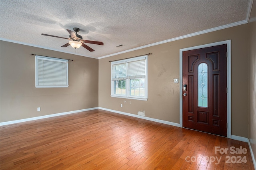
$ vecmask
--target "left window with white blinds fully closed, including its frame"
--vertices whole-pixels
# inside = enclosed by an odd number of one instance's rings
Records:
[[[68,60],[36,55],[36,88],[68,87]]]

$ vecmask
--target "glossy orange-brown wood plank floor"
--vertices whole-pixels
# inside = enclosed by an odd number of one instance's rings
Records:
[[[103,110],[1,126],[0,135],[1,170],[254,169],[246,142]]]

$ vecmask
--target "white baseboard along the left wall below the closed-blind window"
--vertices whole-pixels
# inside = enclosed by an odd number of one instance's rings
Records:
[[[45,118],[49,118],[49,117],[56,117],[56,116],[68,115],[68,114],[78,113],[78,112],[84,112],[84,111],[91,111],[91,110],[95,110],[95,109],[98,109],[98,107],[93,107],[93,108],[89,108],[89,109],[82,109],[82,110],[77,110],[77,111],[69,111],[69,112],[63,112],[63,113],[56,113],[56,114],[52,114],[52,115],[31,117],[31,118],[20,119],[20,120],[16,120],[16,121],[1,122],[1,123],[0,123],[0,126],[3,126],[3,125],[10,125],[10,124],[14,124],[14,123],[27,122],[27,121],[34,121],[34,120],[38,120],[38,119],[45,119]]]

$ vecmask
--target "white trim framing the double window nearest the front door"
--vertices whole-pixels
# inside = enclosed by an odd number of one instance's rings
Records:
[[[114,94],[114,81],[112,81],[112,65],[115,64],[120,64],[120,63],[128,63],[128,62],[132,62],[132,61],[138,61],[138,60],[142,60],[145,59],[146,60],[146,75],[144,79],[145,82],[145,96],[131,96],[130,95],[130,80],[126,78],[126,95],[116,95]],[[140,78],[141,79],[141,78]],[[123,59],[123,60],[118,60],[118,61],[112,61],[111,62],[111,97],[117,97],[117,98],[124,98],[124,99],[135,99],[135,100],[143,100],[143,101],[147,101],[148,100],[148,55],[143,55],[140,57],[133,57],[130,59]]]

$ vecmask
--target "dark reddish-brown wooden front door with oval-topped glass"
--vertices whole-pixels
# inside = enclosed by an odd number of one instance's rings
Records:
[[[226,55],[226,44],[183,51],[183,127],[227,136]]]

